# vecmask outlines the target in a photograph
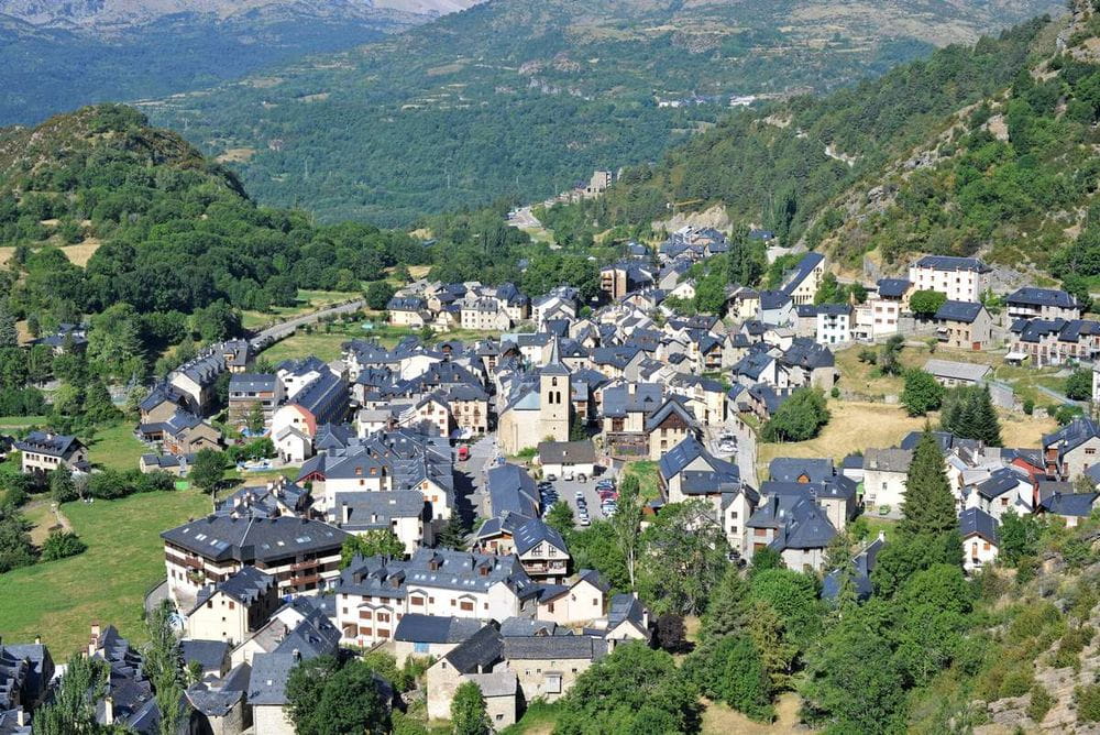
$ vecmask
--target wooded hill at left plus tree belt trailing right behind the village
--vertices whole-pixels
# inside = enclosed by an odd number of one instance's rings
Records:
[[[122,320],[140,337],[147,370],[188,323],[204,325],[196,339],[221,339],[240,332],[241,310],[294,306],[300,288],[360,292],[394,266],[539,294],[568,273],[595,293],[588,252],[536,248],[504,223],[509,206],[428,218],[431,243],[371,224],[317,226],[257,207],[232,173],[136,110],[89,107],[0,129],[0,314],[31,318],[38,332],[108,314],[111,331]],[[78,251],[92,253],[84,267]]]

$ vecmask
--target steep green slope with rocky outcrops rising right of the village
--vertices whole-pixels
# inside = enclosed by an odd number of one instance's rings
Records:
[[[721,205],[785,244],[829,250],[847,270],[870,256],[897,271],[933,252],[1096,276],[1100,15],[1081,8],[821,99],[734,116],[628,172],[583,215],[548,219],[569,234],[579,221],[598,231],[663,219],[670,204]]]

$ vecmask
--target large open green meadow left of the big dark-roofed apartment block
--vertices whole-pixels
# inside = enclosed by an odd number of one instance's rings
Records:
[[[4,639],[41,634],[59,661],[87,643],[92,622],[140,639],[142,601],[165,574],[160,533],[208,509],[209,500],[193,491],[66,503],[62,512],[88,550],[0,574]]]

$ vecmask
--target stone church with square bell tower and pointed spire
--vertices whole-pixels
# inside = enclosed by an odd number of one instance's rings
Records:
[[[570,392],[569,368],[561,361],[561,348],[554,337],[550,358],[531,381],[515,392],[501,412],[497,427],[501,450],[518,454],[540,441],[569,441]]]

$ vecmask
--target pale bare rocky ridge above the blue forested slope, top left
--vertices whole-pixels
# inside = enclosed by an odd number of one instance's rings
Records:
[[[266,17],[369,20],[380,13],[443,15],[481,0],[0,0],[0,15],[41,28],[118,31],[166,15],[200,14],[222,20],[262,11]]]

